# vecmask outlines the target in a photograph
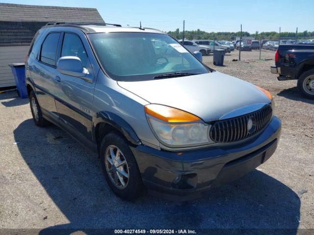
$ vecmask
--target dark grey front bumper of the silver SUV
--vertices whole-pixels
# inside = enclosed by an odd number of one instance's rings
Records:
[[[131,150],[149,190],[189,200],[263,164],[276,150],[280,132],[281,121],[274,116],[261,133],[242,143],[174,152],[145,145]]]

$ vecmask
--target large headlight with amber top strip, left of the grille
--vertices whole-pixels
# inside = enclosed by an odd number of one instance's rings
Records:
[[[166,145],[199,145],[209,142],[209,125],[179,109],[149,104],[145,113],[153,132]]]

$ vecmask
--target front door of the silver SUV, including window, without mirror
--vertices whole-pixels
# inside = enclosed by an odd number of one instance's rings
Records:
[[[84,35],[85,45],[78,33],[64,32],[60,57],[77,56],[83,67],[88,70],[85,79],[59,73],[55,86],[57,99],[56,109],[60,125],[73,134],[78,140],[92,140],[93,97],[95,89],[95,73],[85,47],[89,47]]]

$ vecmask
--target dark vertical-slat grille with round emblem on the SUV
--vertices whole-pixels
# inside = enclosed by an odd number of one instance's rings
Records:
[[[250,114],[215,121],[209,131],[210,139],[215,142],[241,141],[261,131],[272,117],[270,105]],[[248,125],[248,122],[250,123]],[[252,126],[250,130],[248,127]]]

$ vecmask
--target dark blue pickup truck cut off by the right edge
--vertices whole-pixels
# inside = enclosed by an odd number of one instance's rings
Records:
[[[299,92],[314,99],[314,45],[279,45],[270,71],[279,81],[297,79]]]

